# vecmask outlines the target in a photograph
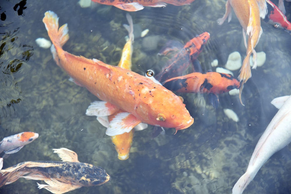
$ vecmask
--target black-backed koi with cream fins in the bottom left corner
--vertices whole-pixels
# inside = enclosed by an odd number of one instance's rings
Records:
[[[67,148],[53,149],[62,161],[27,161],[0,170],[0,187],[19,178],[42,180],[38,188],[62,194],[82,186],[98,186],[110,181],[106,171],[92,164],[78,161],[76,152]]]

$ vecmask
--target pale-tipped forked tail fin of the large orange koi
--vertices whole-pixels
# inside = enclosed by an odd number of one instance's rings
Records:
[[[68,41],[68,25],[64,24],[58,28],[58,16],[54,12],[45,12],[42,22],[45,24],[49,38],[56,48],[62,47]]]

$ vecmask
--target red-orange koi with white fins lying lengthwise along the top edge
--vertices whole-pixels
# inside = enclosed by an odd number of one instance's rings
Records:
[[[118,0],[92,0],[95,3],[101,3],[104,5],[115,6],[125,11],[139,11],[143,6],[149,7],[166,7],[167,3],[175,6],[182,6],[192,3],[194,0],[130,0],[130,1],[118,1]]]

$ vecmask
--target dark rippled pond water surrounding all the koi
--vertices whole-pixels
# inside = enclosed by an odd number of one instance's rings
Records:
[[[222,0],[196,0],[186,6],[130,13],[141,30],[150,30],[145,37],[135,39],[133,71],[159,71],[165,58],[157,53],[168,39],[184,44],[205,31],[211,40],[198,57],[203,70],[214,70],[210,65],[214,59],[223,67],[234,51],[244,58],[237,19],[216,24],[224,14],[224,4]],[[290,20],[291,5],[285,5]],[[61,25],[68,23],[70,39],[65,51],[116,65],[127,35],[122,26],[127,23],[126,12],[110,6],[81,8],[77,1],[65,0],[4,0],[0,7],[0,139],[23,131],[39,133],[36,141],[4,159],[3,168],[23,161],[60,160],[51,149],[65,147],[77,152],[81,162],[101,166],[111,175],[107,184],[71,193],[230,193],[277,112],[270,101],[291,93],[291,36],[262,22],[263,34],[256,51],[264,51],[267,60],[252,70],[252,78],[245,84],[244,107],[238,96],[228,93],[219,95],[216,110],[207,95],[181,94],[194,125],[176,135],[174,129],[166,129],[166,135],[155,139],[150,137],[152,127],[136,132],[129,159],[120,161],[105,128],[95,117],[85,115],[97,98],[68,81],[49,49],[38,47],[35,39],[48,38],[42,18],[45,11],[52,10]],[[233,73],[236,77],[239,71]],[[204,98],[206,107],[194,104]],[[233,109],[239,122],[229,119],[225,108]],[[245,193],[290,193],[290,159],[289,146],[274,154]],[[49,193],[38,190],[36,182],[19,179],[0,188],[0,193]]]

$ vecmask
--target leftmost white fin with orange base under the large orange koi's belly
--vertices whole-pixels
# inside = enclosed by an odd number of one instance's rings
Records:
[[[88,116],[109,116],[118,111],[119,108],[105,101],[94,101],[86,110]]]

